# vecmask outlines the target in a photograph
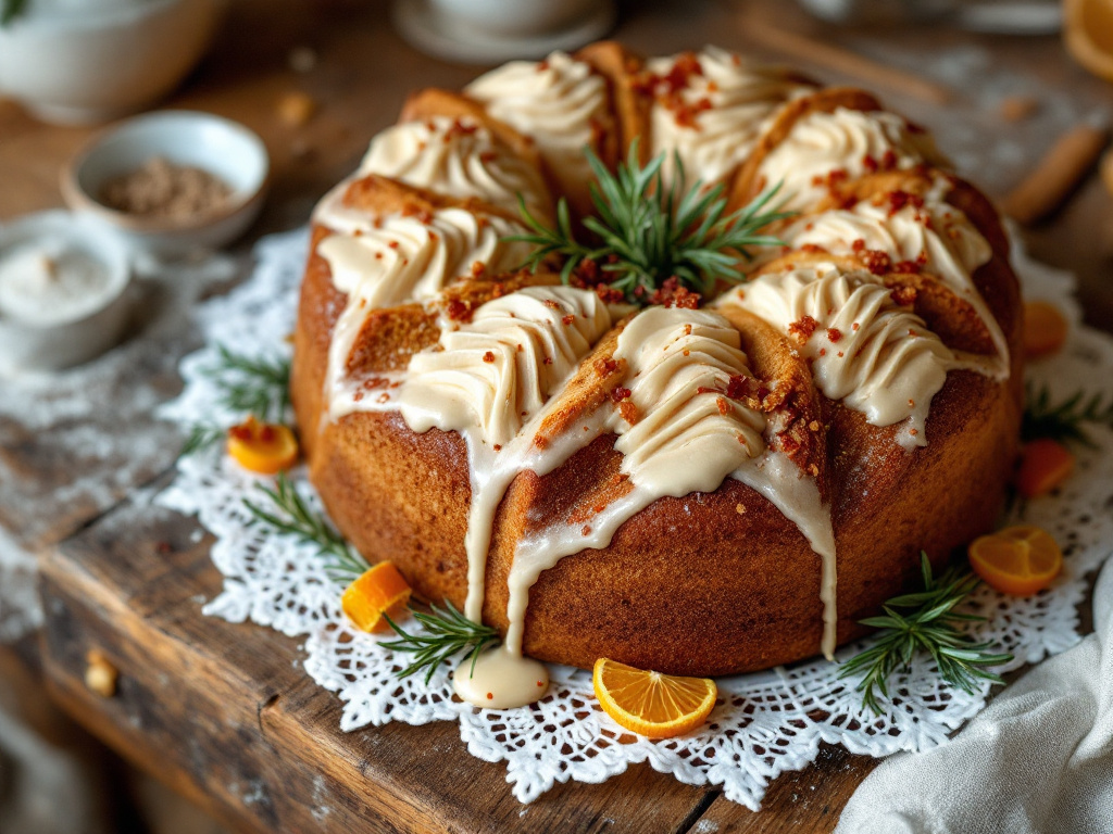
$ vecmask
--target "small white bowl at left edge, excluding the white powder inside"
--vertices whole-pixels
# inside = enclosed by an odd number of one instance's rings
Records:
[[[104,291],[69,316],[11,318],[0,312],[0,376],[60,370],[111,348],[128,322],[131,266],[128,249],[115,235],[69,211],[28,215],[0,227],[0,260],[22,245],[55,239],[98,262],[107,275]]]

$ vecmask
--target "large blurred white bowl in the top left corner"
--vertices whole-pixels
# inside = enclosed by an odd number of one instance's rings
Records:
[[[227,0],[37,8],[0,27],[0,91],[56,123],[108,121],[173,90],[205,53]]]

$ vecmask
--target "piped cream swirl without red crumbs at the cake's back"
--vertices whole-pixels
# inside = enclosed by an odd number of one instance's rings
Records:
[[[595,147],[595,125],[610,116],[607,82],[591,67],[553,52],[540,63],[511,61],[480,76],[464,92],[487,112],[532,137],[561,186],[582,190],[591,179],[584,146]]]

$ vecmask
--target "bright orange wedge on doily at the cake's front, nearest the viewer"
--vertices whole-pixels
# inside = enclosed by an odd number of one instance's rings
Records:
[[[600,657],[591,678],[603,711],[648,738],[672,738],[702,724],[719,694],[715,681],[644,672]]]

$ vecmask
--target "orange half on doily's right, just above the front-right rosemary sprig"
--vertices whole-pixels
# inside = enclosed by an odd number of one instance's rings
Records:
[[[1063,569],[1063,552],[1047,530],[1032,525],[1007,527],[974,539],[971,567],[989,587],[1013,596],[1043,590]]]

